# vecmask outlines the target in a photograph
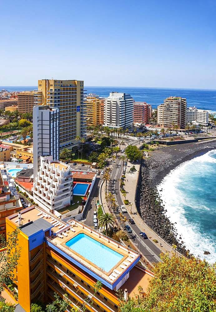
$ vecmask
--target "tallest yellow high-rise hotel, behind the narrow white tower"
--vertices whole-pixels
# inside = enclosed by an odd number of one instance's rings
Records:
[[[86,137],[85,104],[83,101],[84,82],[80,80],[38,80],[38,92],[35,93],[35,105],[49,105],[59,108],[60,149],[77,144],[79,135]]]

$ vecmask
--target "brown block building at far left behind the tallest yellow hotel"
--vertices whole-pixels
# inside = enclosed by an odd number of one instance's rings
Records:
[[[37,91],[23,91],[18,94],[18,111],[20,113],[33,112],[35,92]]]

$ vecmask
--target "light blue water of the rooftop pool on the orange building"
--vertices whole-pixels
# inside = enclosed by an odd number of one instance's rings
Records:
[[[99,243],[84,233],[80,233],[70,239],[70,241],[67,241],[66,246],[106,272],[109,272],[123,258],[115,250]]]

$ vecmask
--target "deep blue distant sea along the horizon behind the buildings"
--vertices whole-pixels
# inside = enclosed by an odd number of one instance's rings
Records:
[[[35,90],[37,86],[0,86],[0,90],[25,91]],[[143,88],[143,87],[91,87],[85,86],[86,93],[96,93],[107,97],[110,92],[118,91],[129,93],[135,101],[147,102],[153,108],[163,103],[170,95],[181,96],[187,99],[188,106],[196,106],[216,114],[216,90],[199,89],[169,89],[169,88]]]

